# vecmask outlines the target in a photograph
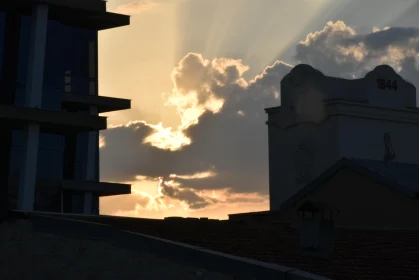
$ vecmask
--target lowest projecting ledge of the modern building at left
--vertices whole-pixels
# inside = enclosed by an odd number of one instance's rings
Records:
[[[92,192],[98,196],[131,194],[131,185],[108,182],[63,180],[61,188],[69,191]]]

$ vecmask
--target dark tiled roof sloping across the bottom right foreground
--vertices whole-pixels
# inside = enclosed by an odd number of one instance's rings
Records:
[[[251,225],[229,221],[109,216],[79,218],[277,263],[336,280],[419,279],[418,231],[339,228],[335,240],[336,256],[332,259],[319,259],[299,253],[298,229],[285,224]]]

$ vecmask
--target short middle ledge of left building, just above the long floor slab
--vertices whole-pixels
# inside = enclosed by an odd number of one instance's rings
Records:
[[[98,95],[64,93],[63,108],[88,109],[97,106],[99,113],[131,109],[131,100]]]

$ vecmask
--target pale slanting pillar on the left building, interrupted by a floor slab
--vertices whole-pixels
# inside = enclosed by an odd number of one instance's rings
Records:
[[[32,32],[29,45],[25,106],[41,107],[44,80],[45,44],[48,24],[48,6],[33,7]],[[25,127],[23,162],[20,171],[18,209],[32,211],[34,206],[36,169],[38,161],[39,125]]]

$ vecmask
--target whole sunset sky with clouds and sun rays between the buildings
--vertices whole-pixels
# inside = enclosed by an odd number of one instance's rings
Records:
[[[226,219],[269,208],[264,108],[297,64],[360,78],[380,64],[419,86],[417,0],[109,0],[99,33],[101,180],[132,194],[101,214]]]

